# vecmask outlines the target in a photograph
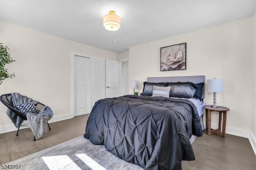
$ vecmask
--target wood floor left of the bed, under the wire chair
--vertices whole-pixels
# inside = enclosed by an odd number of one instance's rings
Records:
[[[30,128],[21,129],[18,136],[16,136],[16,131],[0,134],[0,164],[6,164],[82,136],[88,117],[89,114],[49,123],[51,130],[36,141],[33,141],[34,134]]]

